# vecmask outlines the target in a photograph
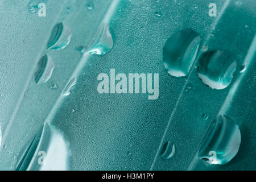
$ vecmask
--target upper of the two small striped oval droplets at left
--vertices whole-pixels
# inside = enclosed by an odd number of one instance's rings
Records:
[[[52,28],[51,36],[47,43],[47,49],[64,49],[70,43],[72,31],[63,23],[57,23]]]

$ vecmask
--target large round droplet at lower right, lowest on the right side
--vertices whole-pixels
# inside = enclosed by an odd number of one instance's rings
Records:
[[[210,160],[210,164],[226,164],[236,156],[240,143],[241,133],[237,123],[225,115],[220,115],[205,134],[199,158],[207,162]]]

